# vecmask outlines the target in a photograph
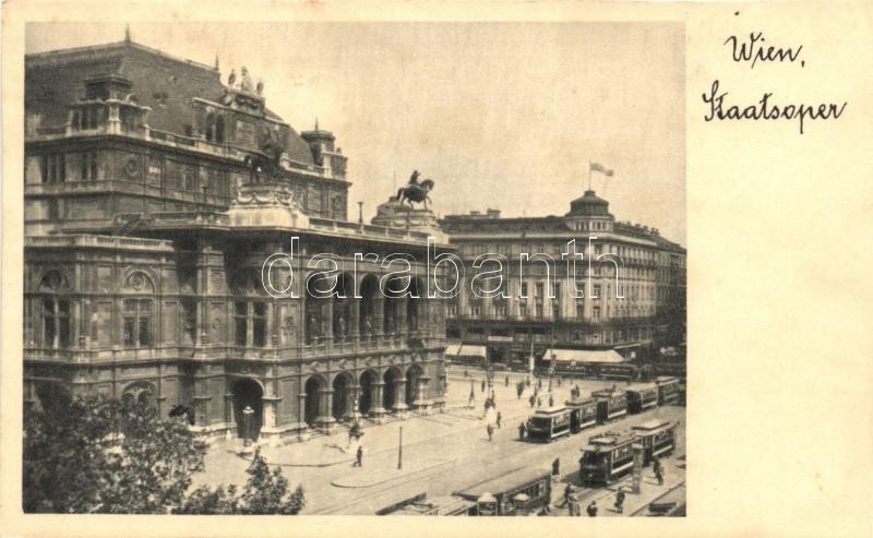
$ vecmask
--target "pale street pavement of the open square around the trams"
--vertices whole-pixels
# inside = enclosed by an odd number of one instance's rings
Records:
[[[552,443],[528,443],[518,440],[518,425],[533,409],[528,397],[533,386],[526,388],[521,399],[515,384],[526,378],[519,373],[498,373],[494,376],[497,409],[502,415],[502,428],[488,440],[486,426],[494,416],[483,415],[485,394],[481,392],[482,371],[470,368],[469,378],[464,368],[449,370],[447,407],[445,413],[427,416],[410,414],[404,420],[382,425],[367,425],[361,439],[363,466],[352,467],[357,445],[349,443],[347,429],[332,435],[318,435],[301,443],[279,447],[262,447],[271,466],[280,466],[291,486],[302,485],[306,492],[304,514],[372,514],[395,502],[427,493],[428,497],[449,495],[453,491],[500,476],[522,467],[551,468],[552,461],[561,462],[562,479],[576,480],[579,450],[589,437],[605,431],[621,431],[653,418],[680,422],[679,445],[673,455],[663,461],[667,469],[663,486],[657,486],[650,468],[645,469],[641,494],[627,494],[624,515],[644,507],[653,499],[684,482],[684,407],[663,407],[643,415],[588,429],[576,435],[564,437]],[[506,386],[505,378],[510,376]],[[475,393],[469,407],[470,380]],[[555,404],[570,398],[574,385],[588,396],[591,391],[615,384],[596,380],[563,381],[552,385]],[[546,393],[546,394],[543,394]],[[548,381],[540,392],[543,407],[548,404]],[[403,428],[403,455],[399,455],[400,428]],[[238,455],[241,441],[234,439],[213,444],[206,455],[206,471],[194,477],[195,486],[246,482],[249,461]],[[249,456],[250,457],[250,456]],[[399,468],[398,468],[399,467]],[[648,476],[646,476],[646,474]],[[630,485],[630,480],[625,481]],[[560,503],[564,483],[554,482],[553,499]],[[581,499],[582,510],[590,500],[597,500],[600,516],[613,513],[614,488],[586,491]],[[567,515],[566,510],[554,514]]]

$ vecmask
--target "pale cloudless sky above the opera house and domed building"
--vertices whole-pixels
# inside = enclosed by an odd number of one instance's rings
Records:
[[[133,23],[134,41],[248,67],[297,131],[349,158],[349,217],[414,169],[440,215],[563,215],[588,183],[619,220],[685,243],[685,38],[675,23]],[[124,24],[29,24],[28,53],[120,41]]]

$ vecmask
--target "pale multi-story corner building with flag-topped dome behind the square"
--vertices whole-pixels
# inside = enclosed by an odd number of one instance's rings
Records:
[[[549,348],[615,349],[643,360],[654,347],[684,342],[685,249],[657,229],[617,222],[594,191],[572,201],[564,216],[501,218],[488,210],[449,215],[441,225],[468,270],[447,321],[449,338],[465,350],[523,364]],[[493,258],[480,272],[503,265],[497,297],[473,291],[469,268],[479,256]],[[574,258],[575,270],[567,263]],[[563,355],[586,360],[585,352]]]

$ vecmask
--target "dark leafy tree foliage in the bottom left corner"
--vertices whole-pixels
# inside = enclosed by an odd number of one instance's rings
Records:
[[[189,493],[204,470],[207,445],[183,419],[163,420],[145,404],[76,399],[24,417],[25,512],[158,514],[296,514],[302,489],[288,499],[288,480],[256,454],[242,493],[235,486]],[[248,511],[248,512],[247,512]]]

